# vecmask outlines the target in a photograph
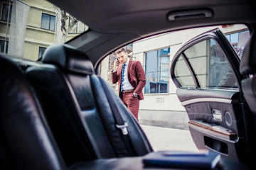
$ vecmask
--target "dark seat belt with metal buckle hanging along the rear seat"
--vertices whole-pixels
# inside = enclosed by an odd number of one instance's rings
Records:
[[[119,130],[121,130],[121,132],[122,132],[122,137],[123,137],[123,140],[124,140],[124,144],[126,145],[128,151],[132,155],[137,155],[137,152],[135,151],[134,146],[132,145],[132,141],[129,137],[129,132],[127,130],[128,123],[124,122],[124,120],[122,118],[122,115],[120,115],[119,108],[117,107],[116,101],[114,101],[114,98],[112,96],[113,92],[111,92],[109,90],[109,88],[107,87],[106,82],[102,78],[100,78],[100,77],[98,77],[98,78],[100,79],[100,83],[102,84],[102,87],[103,87],[103,89],[106,93],[107,100],[110,103],[110,108],[112,110],[114,120],[116,120],[116,125],[115,126]]]

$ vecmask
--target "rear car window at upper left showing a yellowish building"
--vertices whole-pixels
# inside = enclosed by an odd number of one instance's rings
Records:
[[[67,42],[88,30],[45,0],[1,1],[0,15],[0,52],[20,59],[41,60],[49,45]]]

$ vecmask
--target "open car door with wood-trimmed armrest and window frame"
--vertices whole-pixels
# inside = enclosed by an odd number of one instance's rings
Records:
[[[247,118],[239,64],[235,50],[217,28],[181,47],[171,63],[171,78],[198,149],[247,162]]]

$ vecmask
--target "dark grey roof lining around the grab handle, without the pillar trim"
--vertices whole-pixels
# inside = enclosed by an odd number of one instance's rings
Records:
[[[102,33],[134,32],[139,35],[154,32],[159,29],[174,28],[176,25],[184,24],[178,21],[168,21],[167,14],[171,11],[183,11],[187,9],[209,8],[213,11],[213,17],[208,18],[208,23],[214,21],[242,21],[245,16],[255,14],[251,7],[253,1],[211,1],[211,0],[145,0],[145,1],[60,1],[50,0],[53,4],[68,11],[92,30]],[[100,4],[100,5],[99,5]],[[111,6],[109,5],[111,4]],[[93,6],[93,7],[92,7]],[[232,11],[247,9],[247,13],[233,13]],[[114,10],[113,10],[114,9]],[[134,19],[136,18],[136,19]],[[188,20],[191,23],[203,23],[206,18]]]

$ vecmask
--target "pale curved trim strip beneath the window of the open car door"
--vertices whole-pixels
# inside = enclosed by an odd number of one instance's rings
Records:
[[[186,106],[193,103],[200,103],[200,102],[218,102],[218,103],[236,103],[238,101],[227,99],[227,98],[194,98],[188,101],[182,101],[181,105]]]

